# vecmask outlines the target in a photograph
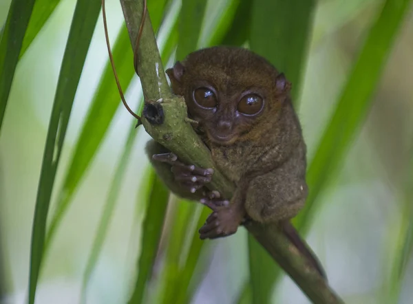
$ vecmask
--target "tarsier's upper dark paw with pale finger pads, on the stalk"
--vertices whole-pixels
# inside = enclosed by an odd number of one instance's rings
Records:
[[[152,159],[171,164],[171,171],[175,175],[176,182],[191,193],[195,193],[205,184],[211,182],[213,169],[202,169],[193,165],[187,166],[180,162],[178,156],[173,153],[154,154]]]

